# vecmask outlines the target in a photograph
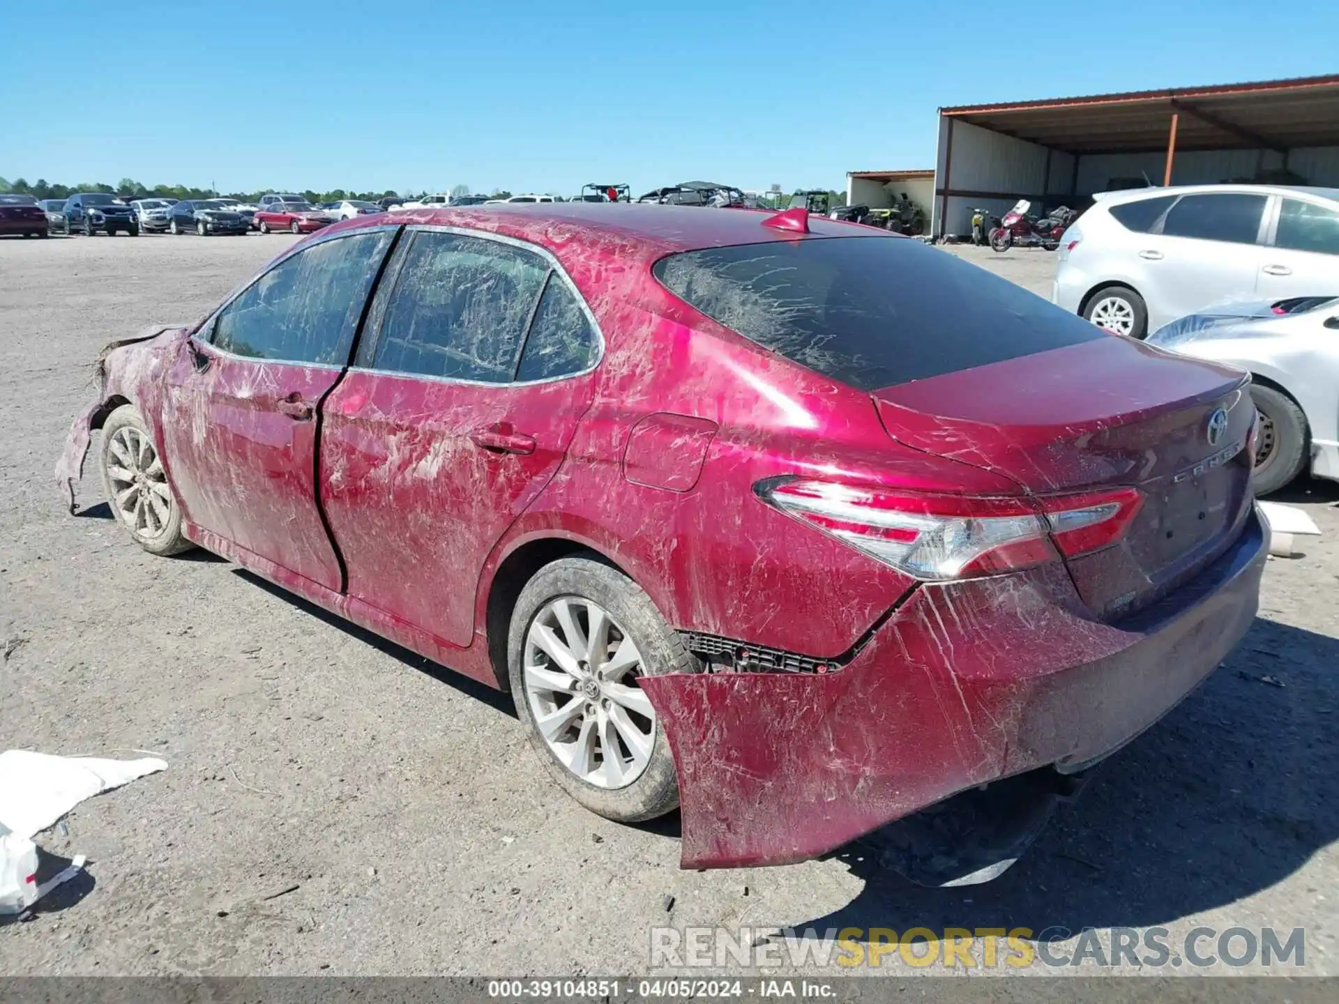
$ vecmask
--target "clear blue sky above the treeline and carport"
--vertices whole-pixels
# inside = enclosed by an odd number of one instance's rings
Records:
[[[939,106],[1339,70],[1339,3],[1296,0],[1287,31],[1273,17],[1283,9],[13,4],[0,175],[224,191],[842,187],[848,170],[933,166]]]

